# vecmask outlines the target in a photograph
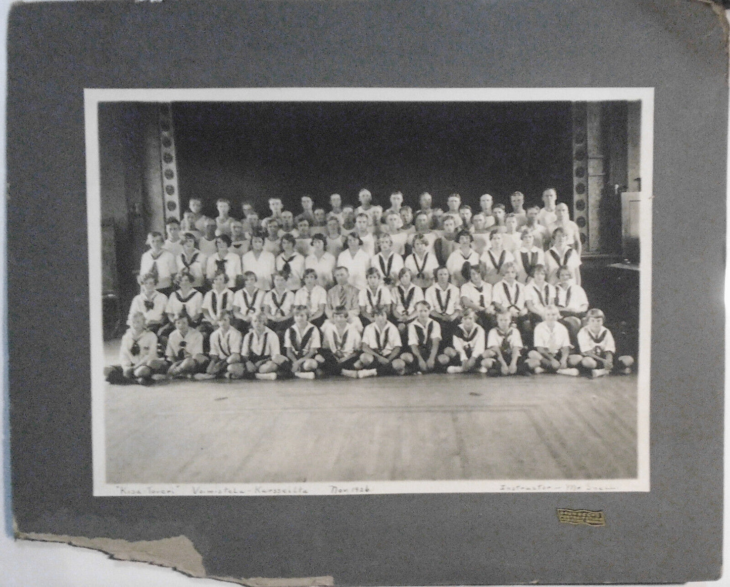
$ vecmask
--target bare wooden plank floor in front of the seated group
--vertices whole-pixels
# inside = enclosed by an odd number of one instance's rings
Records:
[[[176,381],[106,397],[107,483],[637,475],[635,376]]]

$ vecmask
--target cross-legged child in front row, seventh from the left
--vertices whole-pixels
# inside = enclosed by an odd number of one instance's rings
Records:
[[[375,306],[372,314],[374,321],[363,330],[363,353],[359,360],[363,370],[357,372],[358,377],[404,375],[406,364],[398,358],[401,354],[401,337],[395,325],[388,322],[388,308]]]

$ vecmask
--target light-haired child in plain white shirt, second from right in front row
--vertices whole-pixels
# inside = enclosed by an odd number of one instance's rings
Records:
[[[527,354],[527,367],[534,373],[558,373],[577,377],[575,365],[580,357],[570,354],[572,344],[568,329],[558,322],[560,312],[550,304],[545,307],[545,320],[534,330],[534,349]],[[570,366],[569,366],[570,365]]]

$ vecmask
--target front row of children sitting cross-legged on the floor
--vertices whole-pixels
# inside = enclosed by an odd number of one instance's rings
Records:
[[[558,373],[591,377],[612,370],[629,373],[633,359],[615,358],[615,342],[597,308],[587,313],[587,323],[577,334],[577,346],[569,340],[566,327],[558,322],[560,312],[552,304],[545,319],[534,330],[534,343],[527,350],[510,311],[499,311],[496,326],[488,335],[477,324],[477,313],[466,308],[450,338],[431,318],[425,300],[415,304],[415,319],[407,329],[407,343],[401,342],[397,327],[388,321],[388,309],[376,306],[374,322],[362,334],[347,322],[347,309],[338,306],[333,322],[321,330],[310,322],[306,306],[293,310],[293,324],[285,330],[284,352],[279,337],[266,326],[266,316],[255,312],[245,335],[231,325],[232,313],[220,314],[218,328],[210,336],[210,350],[204,352],[203,335],[190,326],[181,312],[174,321],[164,351],[158,357],[157,337],[147,330],[145,316],[134,312],[131,328],[120,347],[120,365],[104,371],[114,384],[169,378],[276,379],[342,375],[364,378],[375,375],[402,376],[410,373],[486,373],[515,375]]]

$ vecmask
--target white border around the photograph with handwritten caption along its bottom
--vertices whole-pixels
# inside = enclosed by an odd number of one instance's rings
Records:
[[[331,483],[107,483],[104,340],[101,298],[99,102],[537,102],[640,101],[639,352],[637,478],[510,481],[332,481]],[[85,147],[91,319],[91,429],[94,496],[353,495],[403,493],[543,493],[650,491],[650,346],[654,88],[86,88]]]

